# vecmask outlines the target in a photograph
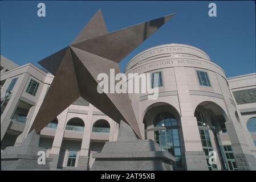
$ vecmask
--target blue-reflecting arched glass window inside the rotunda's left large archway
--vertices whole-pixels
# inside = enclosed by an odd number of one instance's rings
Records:
[[[154,119],[154,126],[160,127],[155,131],[155,142],[176,158],[175,168],[182,168],[180,131],[176,117],[169,112],[159,113]]]

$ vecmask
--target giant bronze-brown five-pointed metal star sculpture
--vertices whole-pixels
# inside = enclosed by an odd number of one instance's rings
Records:
[[[127,122],[141,139],[139,125],[126,93],[98,93],[97,75],[118,63],[174,14],[108,33],[101,11],[92,17],[70,46],[39,61],[54,75],[30,131],[39,133],[80,96],[116,122]]]

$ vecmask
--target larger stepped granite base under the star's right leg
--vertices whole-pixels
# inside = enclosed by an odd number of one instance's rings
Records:
[[[92,155],[91,170],[172,171],[174,156],[161,151],[153,140],[106,142],[102,151]]]

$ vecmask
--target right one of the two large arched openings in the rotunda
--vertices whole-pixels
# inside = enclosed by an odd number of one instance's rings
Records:
[[[206,155],[209,170],[237,170],[231,144],[222,144],[222,138],[228,137],[225,122],[228,117],[225,111],[216,103],[201,102],[194,111],[200,133],[202,149]],[[217,151],[215,150],[217,149]],[[217,163],[210,164],[209,153],[216,152]]]

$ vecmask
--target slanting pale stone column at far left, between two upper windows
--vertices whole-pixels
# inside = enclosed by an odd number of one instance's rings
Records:
[[[5,136],[5,133],[10,125],[11,117],[17,107],[19,98],[27,84],[27,80],[29,79],[29,74],[23,73],[21,76],[18,77],[18,80],[12,90],[11,97],[9,99],[8,104],[5,107],[1,115],[1,140]]]

